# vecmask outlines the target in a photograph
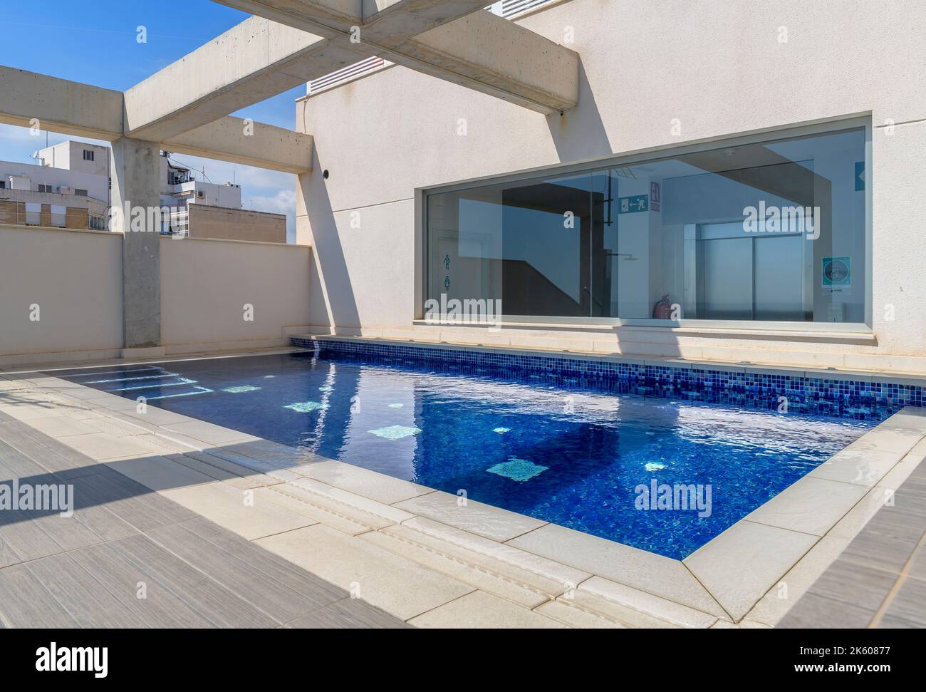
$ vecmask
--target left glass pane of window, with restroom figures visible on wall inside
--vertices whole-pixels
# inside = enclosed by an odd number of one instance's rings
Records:
[[[590,317],[589,173],[428,196],[428,297]]]

